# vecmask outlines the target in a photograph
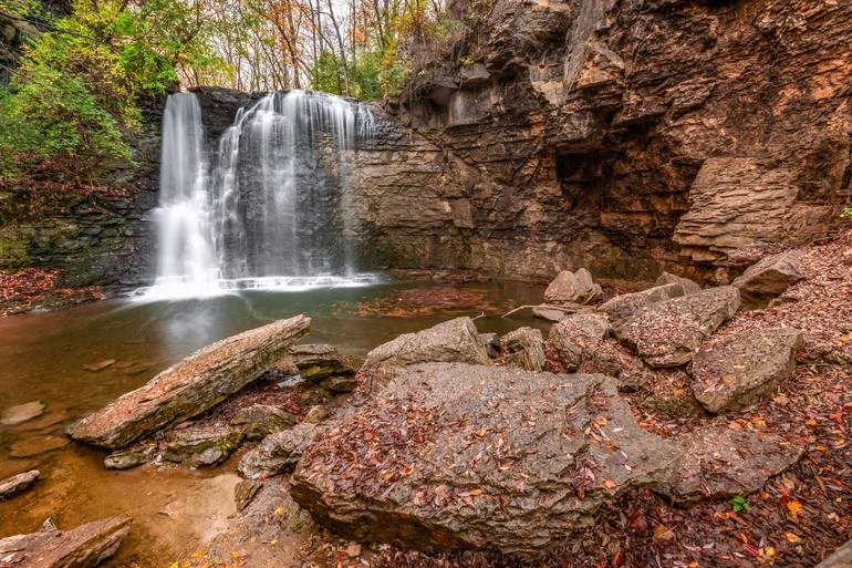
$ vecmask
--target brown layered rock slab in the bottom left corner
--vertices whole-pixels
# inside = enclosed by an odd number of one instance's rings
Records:
[[[115,554],[131,519],[108,517],[71,530],[0,539],[0,565],[14,568],[94,568]]]

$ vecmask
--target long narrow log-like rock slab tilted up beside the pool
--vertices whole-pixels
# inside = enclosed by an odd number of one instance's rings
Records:
[[[283,358],[310,323],[297,316],[217,341],[73,424],[67,433],[76,441],[116,450],[200,414]]]

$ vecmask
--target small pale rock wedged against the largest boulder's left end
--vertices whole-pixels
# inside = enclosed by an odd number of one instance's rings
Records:
[[[325,424],[297,424],[290,430],[276,432],[263,438],[257,447],[247,452],[238,469],[248,479],[280,475],[295,467],[302,453],[313,443]]]

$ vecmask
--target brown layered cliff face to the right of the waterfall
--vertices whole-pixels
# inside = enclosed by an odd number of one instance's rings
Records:
[[[739,248],[842,223],[852,1],[498,0],[475,16],[456,62],[388,109],[411,132],[361,153],[374,264],[725,281]]]

